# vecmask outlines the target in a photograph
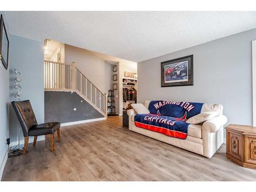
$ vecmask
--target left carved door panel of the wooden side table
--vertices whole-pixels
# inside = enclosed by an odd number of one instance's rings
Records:
[[[227,131],[227,154],[242,161],[242,135]]]

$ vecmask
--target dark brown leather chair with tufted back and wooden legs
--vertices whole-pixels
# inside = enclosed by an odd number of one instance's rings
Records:
[[[12,101],[12,106],[17,115],[18,121],[22,126],[23,135],[25,137],[23,155],[26,154],[29,136],[34,136],[34,143],[36,144],[37,136],[39,135],[51,135],[51,150],[54,151],[54,133],[57,131],[57,141],[60,141],[60,123],[50,122],[37,124],[35,114],[33,112],[31,103],[29,100],[26,101]]]

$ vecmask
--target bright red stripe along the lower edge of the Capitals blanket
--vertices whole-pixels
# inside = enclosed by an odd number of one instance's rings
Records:
[[[168,130],[168,129],[160,127],[160,126],[148,125],[148,124],[144,124],[144,123],[140,123],[140,122],[136,122],[136,121],[134,123],[137,127],[140,127],[142,129],[145,129],[145,130],[150,130],[150,131],[153,131],[153,132],[162,133],[164,135],[167,135],[167,136],[170,136],[170,137],[176,137],[176,138],[179,138],[179,139],[186,139],[187,138],[187,134],[182,133],[182,132]]]

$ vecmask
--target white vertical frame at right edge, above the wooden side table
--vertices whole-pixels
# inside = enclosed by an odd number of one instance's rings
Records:
[[[256,126],[256,40],[251,41],[252,60],[252,124]]]

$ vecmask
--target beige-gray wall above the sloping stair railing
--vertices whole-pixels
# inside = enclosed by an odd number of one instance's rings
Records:
[[[111,65],[92,52],[65,44],[65,63],[75,62],[78,69],[103,93],[111,89]]]

